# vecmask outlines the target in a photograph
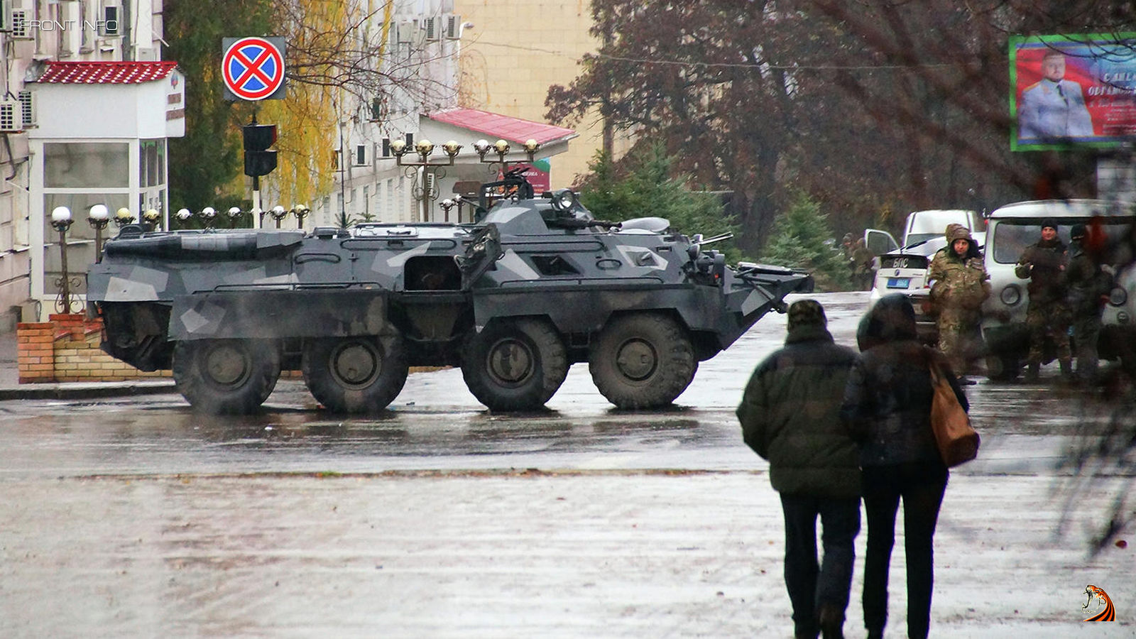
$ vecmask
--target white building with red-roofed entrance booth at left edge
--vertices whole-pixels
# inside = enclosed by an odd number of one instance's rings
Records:
[[[158,61],[161,9],[161,0],[0,0],[0,330],[62,310],[52,209],[66,206],[74,219],[72,310],[94,259],[90,207],[166,214],[166,139],[184,135],[185,89],[175,65]]]

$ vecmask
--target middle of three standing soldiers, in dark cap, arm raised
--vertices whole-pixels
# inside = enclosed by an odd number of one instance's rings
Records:
[[[1026,310],[1026,327],[1029,331],[1029,355],[1026,360],[1026,381],[1037,381],[1042,366],[1042,348],[1045,335],[1053,337],[1061,363],[1061,375],[1072,376],[1072,352],[1069,350],[1069,306],[1066,304],[1066,265],[1068,251],[1058,239],[1058,225],[1052,219],[1042,222],[1042,239],[1026,247],[1014,274],[1029,280],[1029,308]]]

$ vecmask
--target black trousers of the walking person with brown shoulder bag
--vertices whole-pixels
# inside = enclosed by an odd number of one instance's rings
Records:
[[[903,499],[903,548],[908,561],[908,637],[922,639],[930,629],[935,524],[946,490],[942,464],[866,466],[863,506],[868,550],[863,569],[863,622],[883,631],[887,623],[887,572],[895,545],[895,513]]]

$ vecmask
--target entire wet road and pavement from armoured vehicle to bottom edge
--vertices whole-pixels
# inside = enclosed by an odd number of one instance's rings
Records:
[[[852,345],[867,293],[816,297]],[[586,365],[525,415],[490,414],[456,370],[411,375],[366,418],[318,410],[298,380],[240,418],[176,395],[0,403],[0,636],[783,636],[779,509],[734,408],[784,324],[766,317],[648,413],[615,409]],[[968,396],[983,451],[952,486],[974,478],[958,489],[974,499],[989,478],[1044,493],[1070,447],[1130,409],[1049,384]],[[1061,511],[1045,508],[1037,539]],[[960,543],[980,539],[982,523],[955,525]],[[754,589],[758,570],[770,579]],[[955,636],[975,630],[970,605]],[[768,614],[738,617],[752,606]]]

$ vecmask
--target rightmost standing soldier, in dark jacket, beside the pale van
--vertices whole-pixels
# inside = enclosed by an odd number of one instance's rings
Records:
[[[1072,313],[1072,339],[1077,346],[1077,377],[1079,382],[1093,383],[1099,364],[1096,340],[1101,335],[1101,312],[1109,299],[1112,277],[1085,250],[1086,231],[1084,224],[1077,224],[1069,232],[1066,283]]]

